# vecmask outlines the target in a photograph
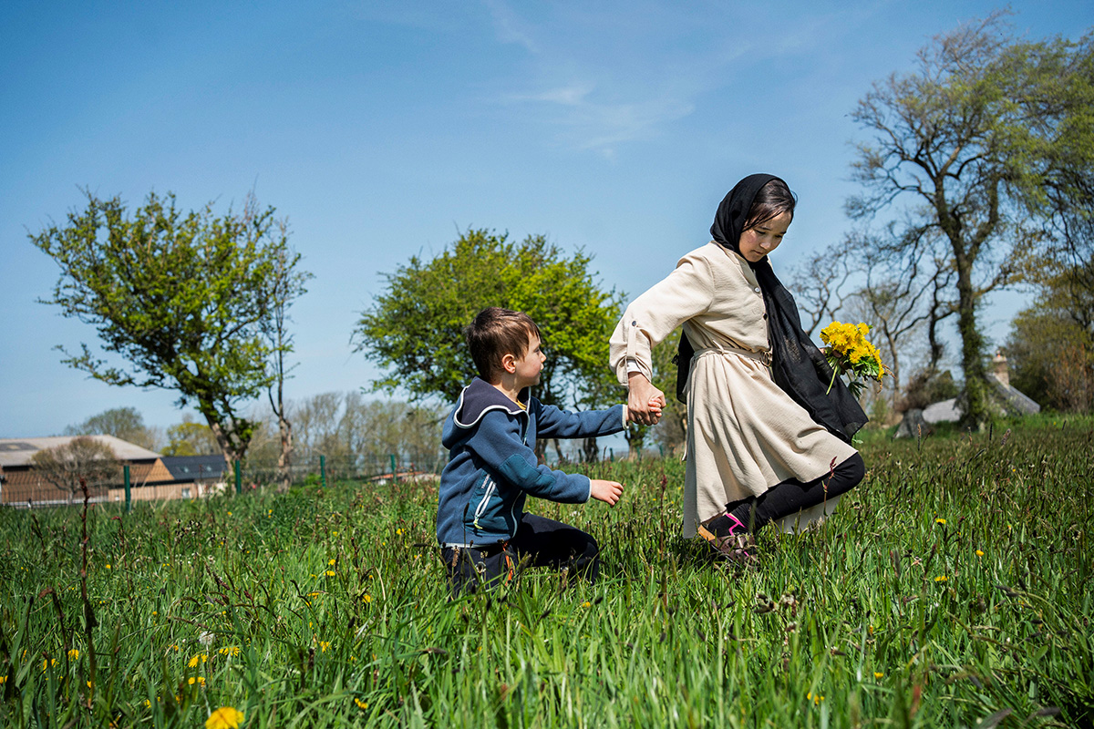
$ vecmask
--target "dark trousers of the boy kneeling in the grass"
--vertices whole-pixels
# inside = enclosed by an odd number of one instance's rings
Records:
[[[589,581],[596,581],[601,565],[600,546],[592,534],[534,514],[521,517],[516,534],[508,542],[445,546],[441,557],[454,597],[464,590],[474,592],[480,585],[490,588],[508,583],[522,562],[532,567],[568,567]]]

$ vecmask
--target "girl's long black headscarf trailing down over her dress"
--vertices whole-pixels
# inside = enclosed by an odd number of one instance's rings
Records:
[[[714,224],[710,226],[714,243],[741,254],[741,233],[753,200],[760,188],[773,179],[785,185],[775,175],[749,175],[733,186],[718,205]],[[775,383],[794,402],[805,408],[815,422],[850,443],[851,436],[869,420],[866,414],[839,377],[833,383],[831,365],[802,329],[794,297],[775,275],[767,256],[756,263],[747,262],[756,272],[756,280],[764,293],[764,305],[767,307],[771,375]],[[680,400],[684,399],[684,385],[687,383],[687,368],[693,354],[691,343],[685,334],[680,338],[677,355],[679,371],[676,396]],[[829,383],[833,383],[830,389]]]

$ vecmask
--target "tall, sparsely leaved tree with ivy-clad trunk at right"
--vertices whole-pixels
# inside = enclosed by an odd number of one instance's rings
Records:
[[[873,139],[858,145],[853,175],[864,192],[848,202],[850,214],[907,201],[944,242],[971,427],[989,414],[977,307],[1038,244],[1029,213],[1051,214],[1052,181],[1091,168],[1092,45],[1019,42],[996,13],[936,36],[916,72],[876,82],[852,114]]]

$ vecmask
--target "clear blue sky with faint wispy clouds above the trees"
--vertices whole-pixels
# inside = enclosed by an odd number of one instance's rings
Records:
[[[778,270],[838,240],[850,119],[870,84],[987,2],[24,2],[0,4],[0,437],[114,407],[178,422],[168,391],[110,388],[54,346],[94,344],[48,296],[28,233],[82,188],[185,209],[254,189],[315,274],[293,307],[289,396],[376,375],[349,343],[382,273],[468,227],[583,248],[641,293],[708,239],[740,177],[800,197]],[[1078,38],[1089,0],[1012,4],[1029,38]],[[984,316],[1001,340],[1020,304]]]

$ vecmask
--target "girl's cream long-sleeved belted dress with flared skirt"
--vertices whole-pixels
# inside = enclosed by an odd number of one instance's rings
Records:
[[[711,242],[636,298],[612,334],[612,366],[624,385],[628,368],[653,379],[651,346],[682,324],[695,348],[687,383],[685,537],[730,502],[788,479],[813,481],[856,452],[771,379],[766,319],[752,267]]]

